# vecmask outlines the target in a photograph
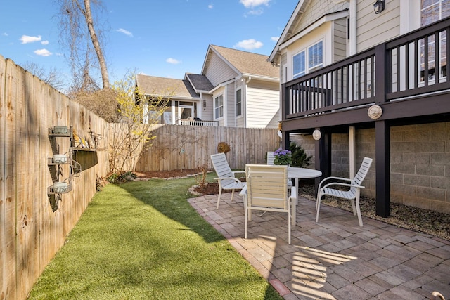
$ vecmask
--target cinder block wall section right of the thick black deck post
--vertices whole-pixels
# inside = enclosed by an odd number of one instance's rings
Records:
[[[392,127],[391,200],[450,213],[450,122]]]

